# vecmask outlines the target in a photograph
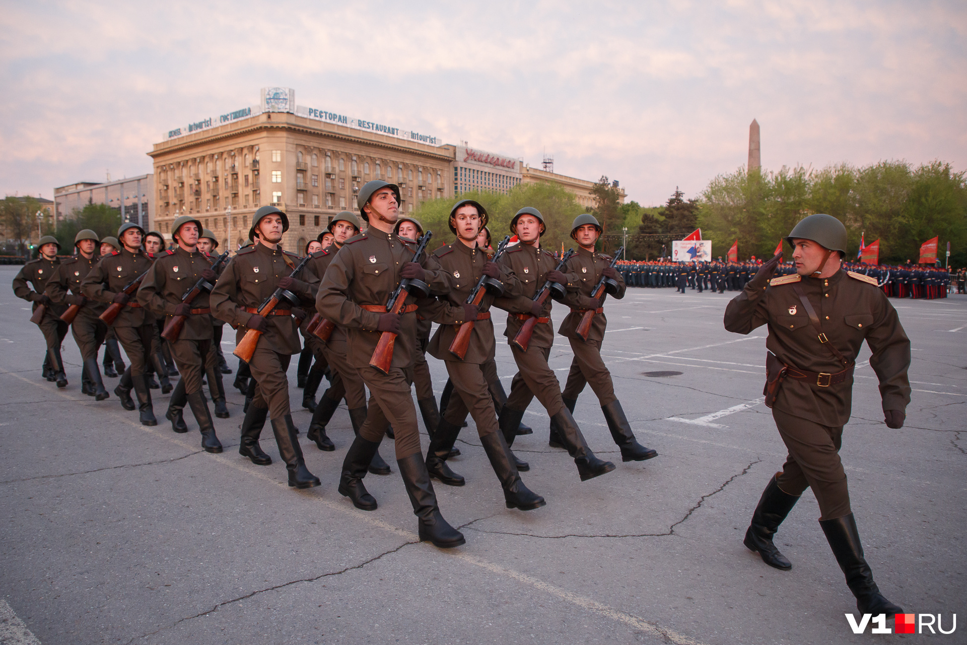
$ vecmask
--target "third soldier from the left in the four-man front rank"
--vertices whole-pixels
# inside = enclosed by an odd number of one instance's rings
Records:
[[[550,348],[554,344],[554,328],[550,321],[551,299],[543,304],[533,300],[544,282],[566,284],[568,279],[556,270],[557,261],[549,250],[541,248],[541,236],[545,230],[541,212],[530,206],[517,211],[511,220],[511,232],[516,234],[520,243],[509,249],[500,258],[498,265],[513,272],[520,282],[520,292],[513,297],[498,298],[494,306],[508,312],[504,336],[511,345],[517,373],[511,382],[511,395],[500,412],[500,429],[508,446],[513,446],[517,427],[523,419],[524,411],[534,396],[538,397],[547,415],[558,427],[568,453],[574,457],[574,464],[581,481],[599,477],[614,470],[610,461],[602,461],[588,447],[581,429],[577,426],[571,411],[561,399],[561,385],[554,370],[547,365]],[[524,321],[534,316],[538,319],[534,334],[521,351],[513,344],[513,338],[523,326]],[[517,470],[528,470],[530,465],[514,456]]]

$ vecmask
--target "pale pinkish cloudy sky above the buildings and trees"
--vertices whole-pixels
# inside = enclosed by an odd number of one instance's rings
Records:
[[[651,205],[747,161],[967,169],[967,3],[0,0],[0,191],[151,171],[161,132],[292,87]]]

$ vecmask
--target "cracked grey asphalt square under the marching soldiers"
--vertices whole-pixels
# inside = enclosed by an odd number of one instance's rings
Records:
[[[0,277],[9,284],[17,269],[0,267]],[[70,385],[46,382],[43,337],[8,290],[0,644],[869,642],[869,630],[854,635],[845,620],[855,601],[810,491],[777,534],[792,571],[767,567],[742,544],[785,452],[761,403],[765,328],[746,337],[722,328],[733,295],[630,288],[609,300],[602,355],[638,440],[659,456],[621,462],[588,388],[574,418],[617,469],[582,483],[568,454],[548,447],[535,400],[525,416],[534,434],[517,437],[514,451],[531,463],[522,478],[547,505],[510,511],[471,421],[450,461],[467,484],[434,484],[467,543],[442,550],[417,540],[391,440],[381,453],[393,474],[366,477],[377,511],[337,493],[349,417],[343,404],[329,425],[335,453],[305,439],[310,415],[295,362],[293,419],[322,480],[305,491],[286,485],[268,426],[271,466],[238,454],[243,397],[233,375],[232,417],[216,419],[225,451],[207,454],[188,410],[190,432],[172,432],[160,391],[156,427],[139,425],[113,394],[82,396],[70,334]],[[906,425],[884,425],[864,348],[841,455],[880,589],[908,612],[942,614],[950,629],[951,614],[967,608],[967,296],[892,302],[913,341]],[[552,315],[559,323],[563,308]],[[504,340],[497,361],[510,389],[516,368]],[[226,328],[234,368],[233,346]],[[568,341],[557,337],[551,366],[562,380],[570,363]],[[439,396],[446,369],[429,364]],[[116,383],[105,378],[109,390]],[[425,446],[422,422],[421,432]],[[936,637],[965,642],[967,628],[957,627]]]

